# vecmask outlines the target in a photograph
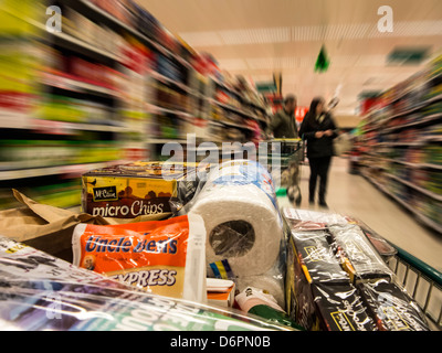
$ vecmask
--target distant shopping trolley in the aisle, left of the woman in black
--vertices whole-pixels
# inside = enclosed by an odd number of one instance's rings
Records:
[[[302,139],[272,139],[267,142],[267,165],[276,189],[286,190],[288,200],[297,206],[302,202],[301,165],[305,148]],[[275,168],[277,167],[277,168]]]

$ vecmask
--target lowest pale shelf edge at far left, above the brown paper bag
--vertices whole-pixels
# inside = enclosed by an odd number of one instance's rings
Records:
[[[0,172],[0,181],[56,175],[56,174],[84,174],[93,169],[106,168],[124,163],[125,161],[109,161],[101,163],[85,163],[85,164],[32,168],[23,170],[9,170]]]

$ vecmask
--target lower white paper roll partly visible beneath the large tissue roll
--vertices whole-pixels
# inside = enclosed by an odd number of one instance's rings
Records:
[[[269,275],[238,278],[236,289],[239,289],[240,292],[248,287],[262,289],[263,291],[269,292],[269,295],[273,296],[281,308],[285,308],[283,278],[275,278]]]

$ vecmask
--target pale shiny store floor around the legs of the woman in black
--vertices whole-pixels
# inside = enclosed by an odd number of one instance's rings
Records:
[[[309,208],[308,176],[309,168],[303,167],[301,208]],[[327,203],[330,212],[361,220],[387,240],[442,271],[442,235],[422,226],[364,176],[348,173],[347,159],[334,158],[332,162]],[[281,206],[288,204],[285,199],[280,203]]]

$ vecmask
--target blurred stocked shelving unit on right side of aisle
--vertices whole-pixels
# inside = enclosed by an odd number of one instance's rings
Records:
[[[361,174],[442,233],[442,56],[386,90],[364,118]]]

